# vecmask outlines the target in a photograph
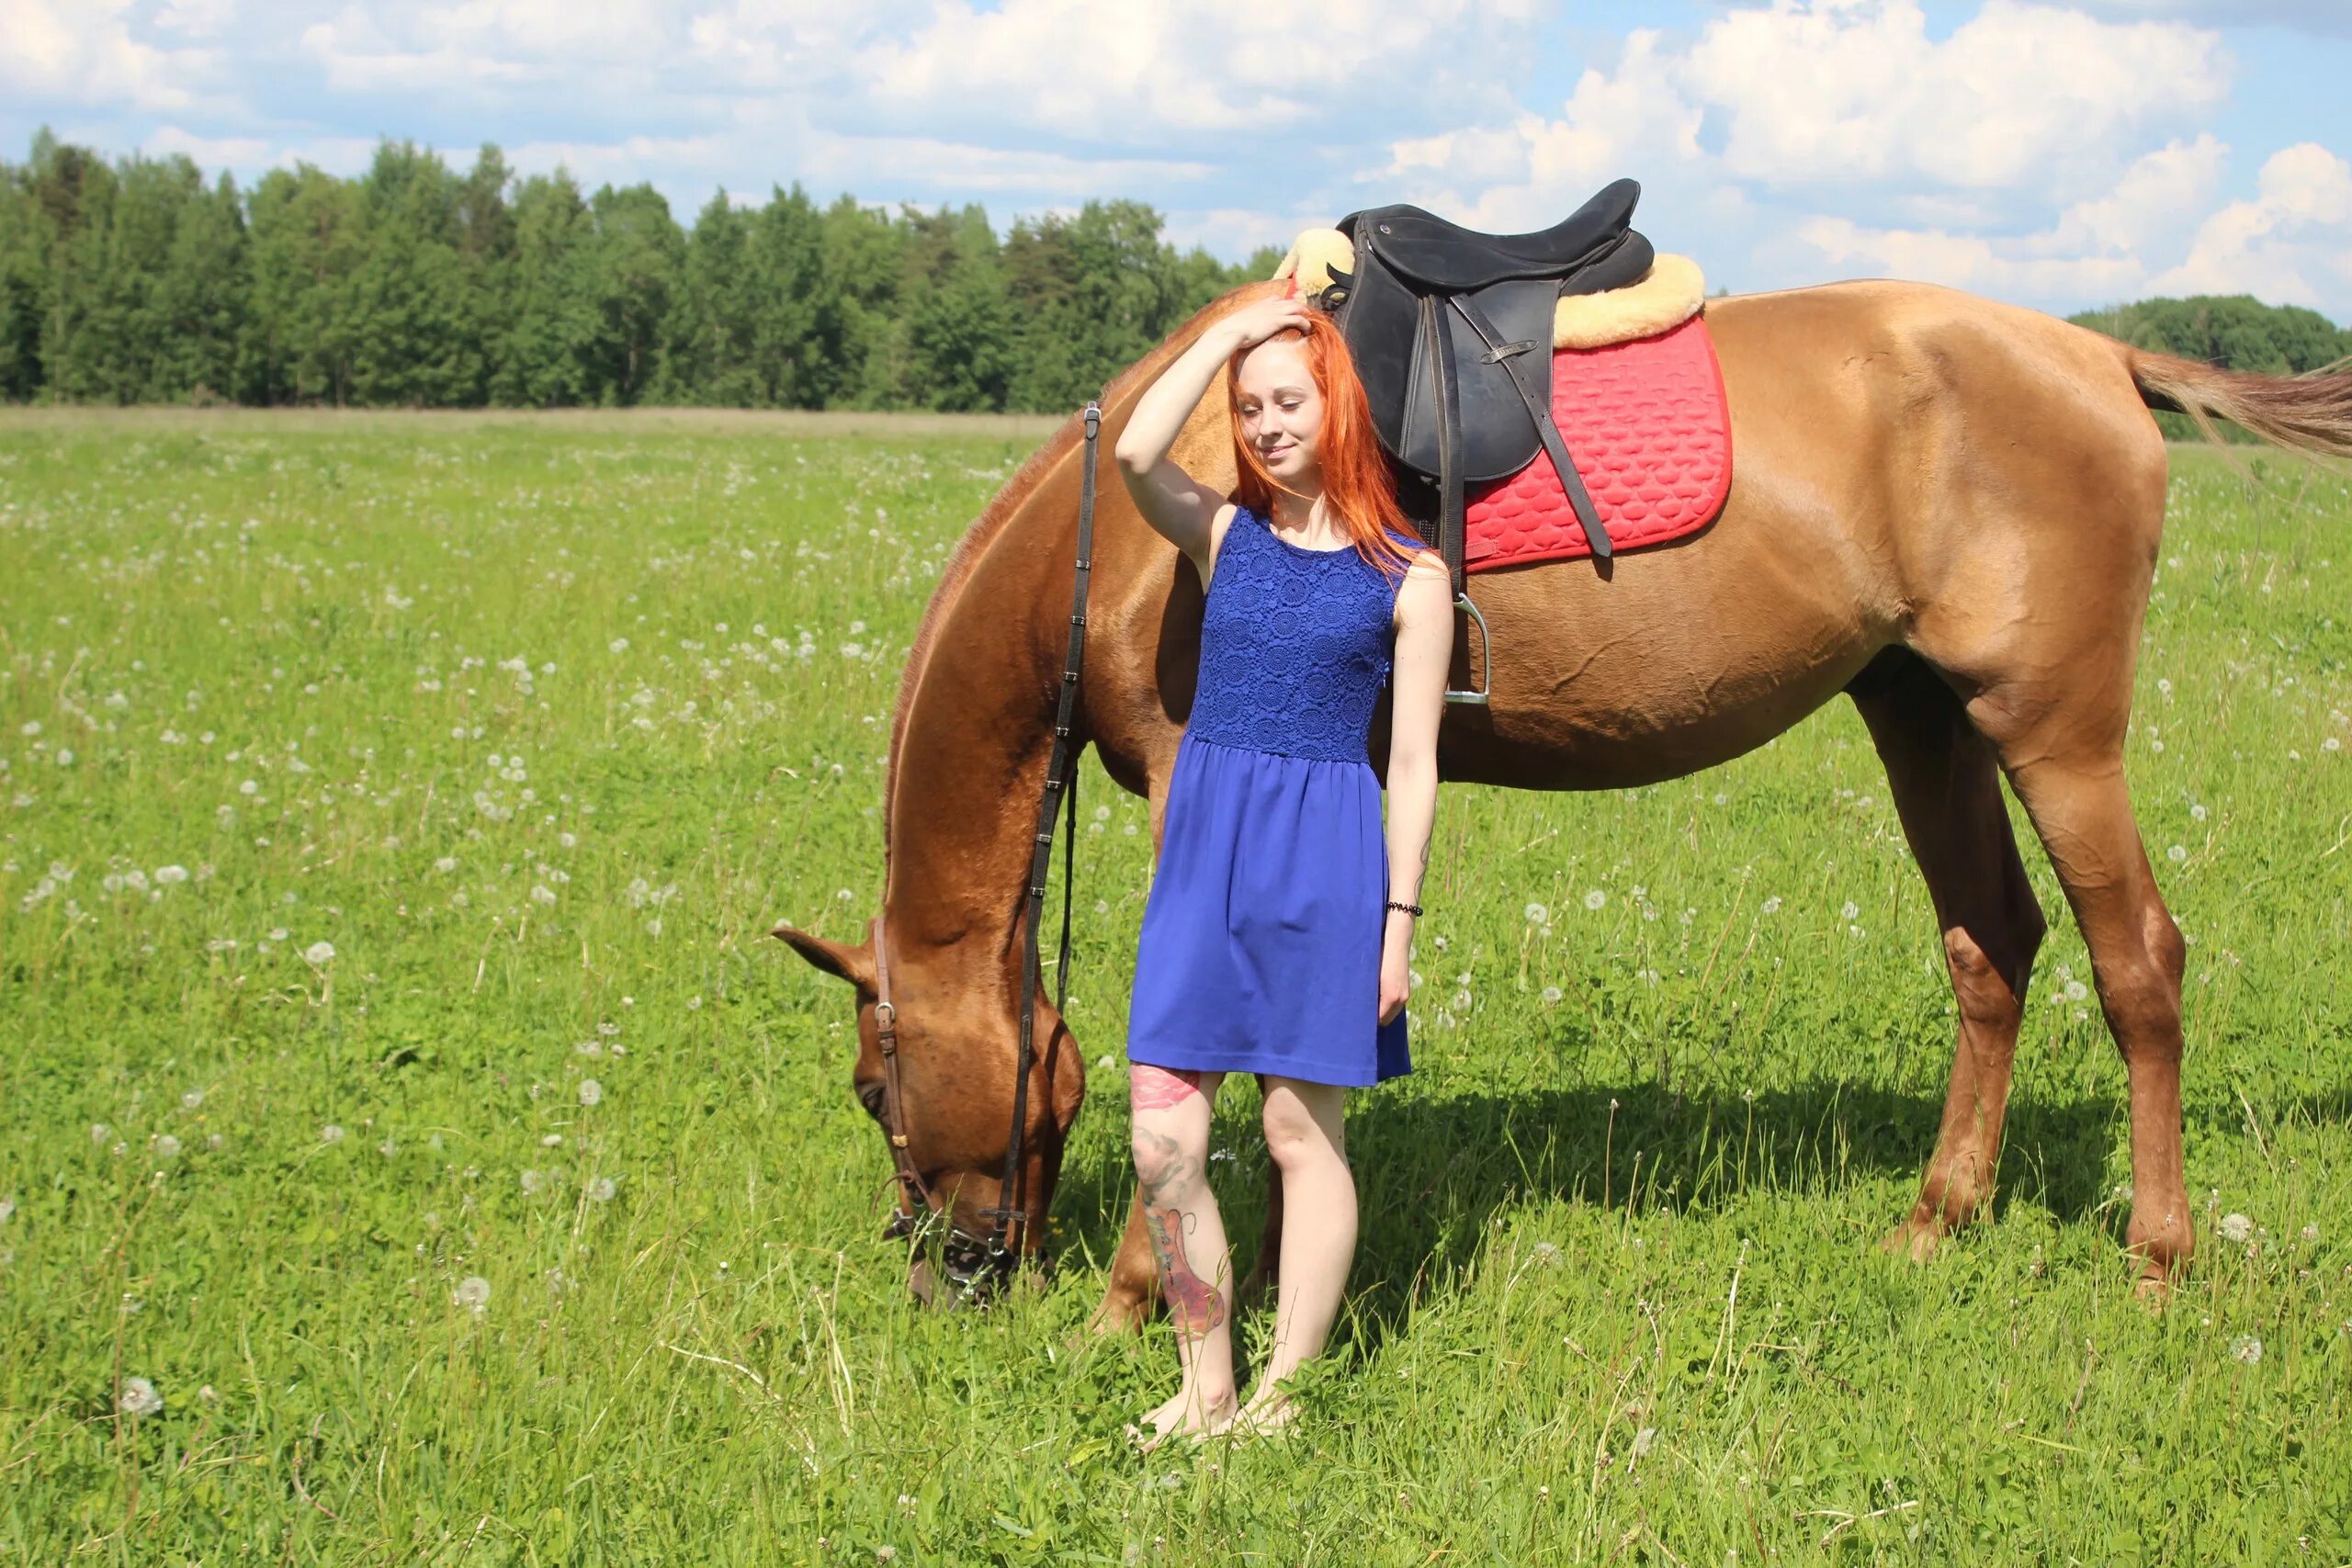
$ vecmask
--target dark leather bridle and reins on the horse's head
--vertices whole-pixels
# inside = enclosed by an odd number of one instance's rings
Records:
[[[1011,1279],[1021,1267],[1021,1232],[1028,1227],[1028,1164],[1021,1159],[1028,1140],[1028,1081],[1037,1060],[1037,926],[1044,919],[1044,884],[1054,870],[1054,809],[1063,809],[1070,846],[1063,853],[1061,877],[1061,957],[1054,964],[1054,1011],[1070,1004],[1070,905],[1077,893],[1077,752],[1070,741],[1070,717],[1077,705],[1077,677],[1087,663],[1087,588],[1094,578],[1094,458],[1103,433],[1103,409],[1089,402],[1087,458],[1077,489],[1077,581],[1070,590],[1070,642],[1061,658],[1061,696],[1054,710],[1054,757],[1044,771],[1044,799],[1037,804],[1037,832],[1030,849],[1028,900],[1021,917],[1021,1044],[1014,1053],[1014,1121],[1004,1140],[1004,1180],[997,1204],[981,1208],[990,1225],[983,1234],[971,1234],[955,1222],[948,1208],[948,1234],[941,1244],[941,1265],[957,1295],[969,1300],[990,1279]],[[915,1237],[938,1213],[931,1187],[922,1180],[910,1147],[906,1121],[906,1095],[898,1084],[898,1006],[889,987],[889,931],[884,917],[875,914],[866,936],[875,952],[875,1044],[882,1051],[882,1133],[889,1138],[889,1157],[898,1178],[901,1204],[891,1213],[887,1237]]]

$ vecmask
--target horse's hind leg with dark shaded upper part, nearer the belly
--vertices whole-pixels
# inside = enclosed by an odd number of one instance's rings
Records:
[[[1926,1258],[1992,1197],[2025,983],[2046,922],[2009,830],[1992,745],[1969,724],[1959,696],[1905,651],[1879,656],[1846,696],[1886,764],[1903,837],[1943,929],[1943,961],[1959,1006],[1936,1154],[1919,1201],[1879,1244]]]

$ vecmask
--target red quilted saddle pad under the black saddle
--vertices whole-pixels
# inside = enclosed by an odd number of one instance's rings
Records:
[[[1653,339],[1555,350],[1552,423],[1621,552],[1696,534],[1724,508],[1731,411],[1705,315]],[[1470,487],[1465,503],[1465,571],[1592,555],[1543,451]]]

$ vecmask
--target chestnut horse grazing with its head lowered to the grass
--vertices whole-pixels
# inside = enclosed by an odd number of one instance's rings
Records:
[[[1103,451],[1145,386],[1240,303],[1204,306],[1103,395]],[[1717,522],[1670,548],[1482,574],[1491,703],[1444,715],[1444,778],[1611,790],[1729,762],[1837,693],[1870,726],[1926,877],[1959,1011],[1943,1126],[1886,1246],[1926,1258],[1992,1194],[2027,973],[2044,919],[2002,806],[2023,802],[2091,950],[2131,1081],[2126,1246],[2150,1293],[2190,1260],[2180,1171],[2180,976],[2124,788],[2133,661],[2164,531],[2150,409],[2225,416],[2281,447],[2352,454],[2352,374],[2256,376],[2129,348],[1952,289],[1842,282],[1712,299],[1733,430]],[[1023,912],[1051,750],[1080,465],[1073,418],[988,503],[908,654],[884,783],[880,931],[858,945],[776,926],[856,987],[854,1086],[884,1119],[877,959],[896,1013],[898,1117],[922,1197],[969,1237],[1000,1201],[1021,1006]],[[1174,458],[1232,484],[1223,388]],[[1077,738],[1145,795],[1160,842],[1192,708],[1202,588],[1101,487]],[[1468,670],[1456,628],[1456,670]],[[1388,752],[1388,710],[1371,759]],[[1035,1251],[1084,1098],[1077,1039],[1040,985],[1023,1248]],[[908,1187],[915,1192],[915,1187]],[[903,1213],[903,1211],[901,1211]],[[901,1225],[906,1218],[901,1218]],[[1268,1246],[1279,1206],[1268,1218]],[[917,1288],[924,1276],[917,1269]],[[1141,1211],[1096,1326],[1155,1295]]]

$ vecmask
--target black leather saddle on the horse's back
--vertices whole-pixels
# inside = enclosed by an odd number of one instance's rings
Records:
[[[1562,294],[1621,289],[1649,273],[1632,228],[1642,186],[1621,179],[1552,228],[1482,235],[1421,207],[1341,219],[1355,270],[1317,303],[1334,313],[1371,400],[1381,444],[1437,484],[1437,538],[1463,597],[1463,487],[1545,451],[1592,555],[1609,531],[1552,423],[1552,310]],[[1428,538],[1430,527],[1423,524]]]

